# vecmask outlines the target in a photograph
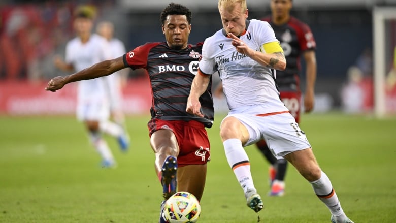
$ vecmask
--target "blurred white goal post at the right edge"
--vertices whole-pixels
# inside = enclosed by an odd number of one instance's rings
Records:
[[[386,52],[390,50],[386,42],[386,22],[396,20],[396,7],[373,8],[373,47],[374,47],[374,114],[381,118],[387,115],[385,76],[387,74]]]

